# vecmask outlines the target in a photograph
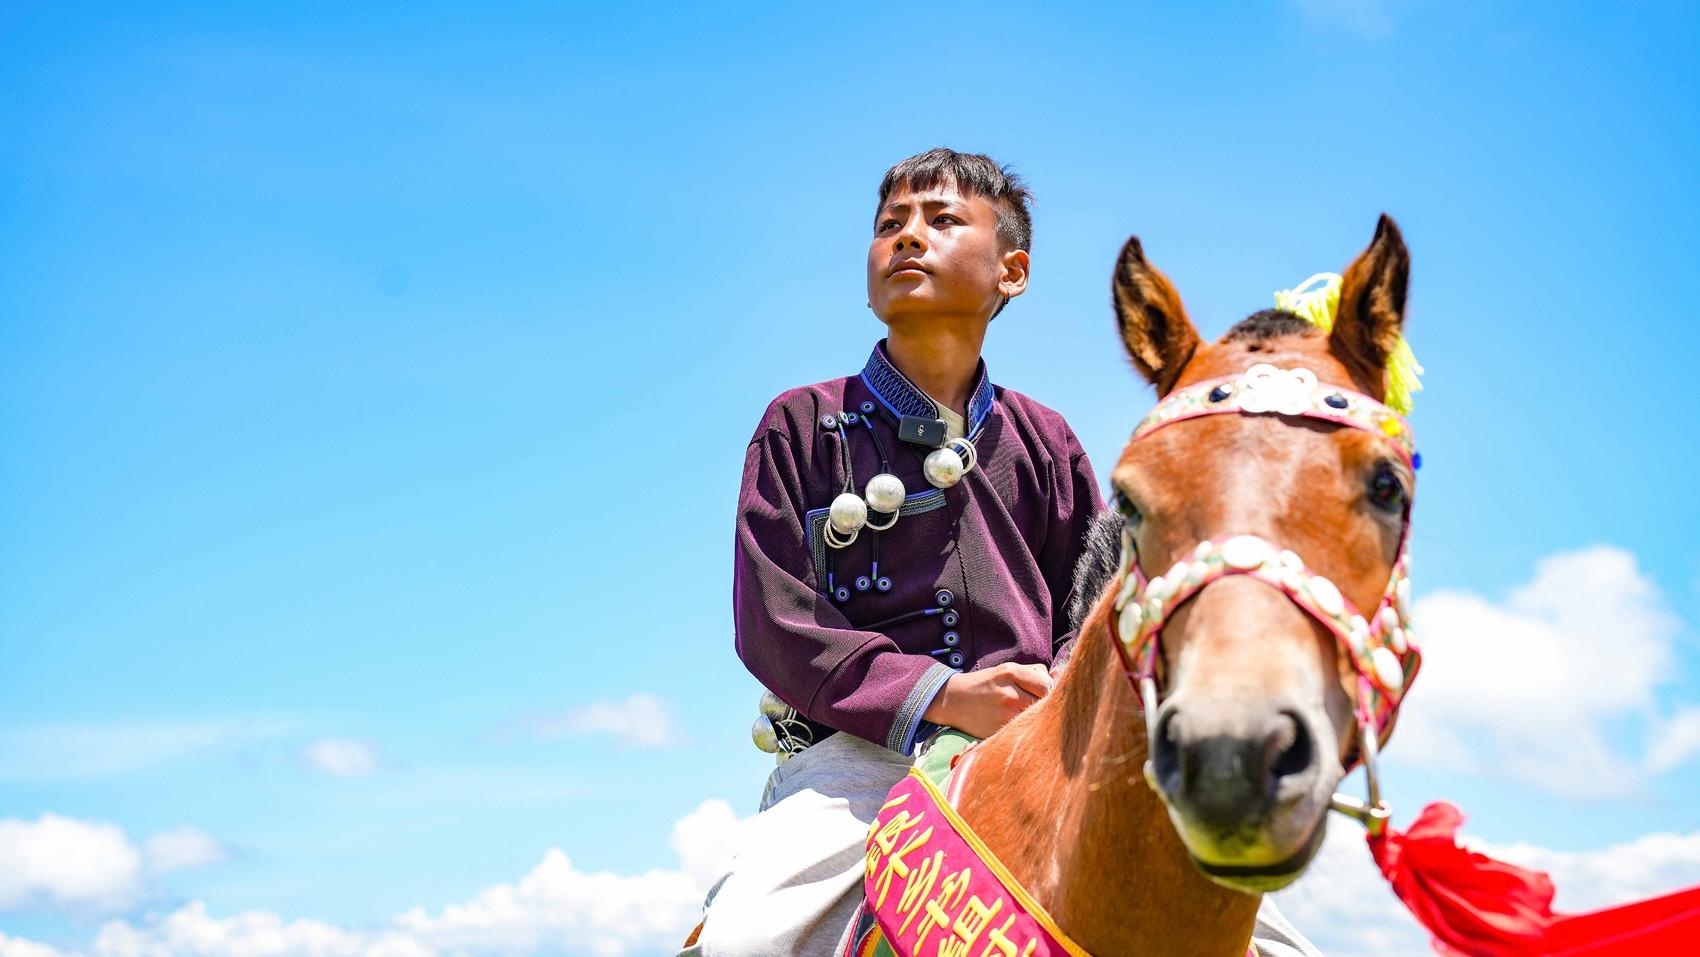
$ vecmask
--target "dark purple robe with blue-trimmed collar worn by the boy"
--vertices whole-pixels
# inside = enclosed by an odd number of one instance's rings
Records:
[[[938,418],[884,342],[860,376],[767,406],[738,496],[733,615],[745,666],[816,739],[848,731],[908,755],[950,675],[1066,654],[1074,563],[1102,500],[1062,416],[993,386],[984,362],[966,418],[979,461],[955,486],[921,474],[930,449],[898,439],[903,415]],[[889,467],[908,496],[891,530],[830,549],[847,449],[852,491]]]

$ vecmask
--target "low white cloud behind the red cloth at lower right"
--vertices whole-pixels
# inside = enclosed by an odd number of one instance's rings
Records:
[[[1363,831],[1333,821],[1323,850],[1277,904],[1328,957],[1430,957],[1428,932],[1394,898],[1375,869]],[[1700,884],[1700,831],[1646,835],[1591,852],[1491,845],[1465,835],[1486,855],[1545,870],[1557,887],[1554,909],[1581,913]]]

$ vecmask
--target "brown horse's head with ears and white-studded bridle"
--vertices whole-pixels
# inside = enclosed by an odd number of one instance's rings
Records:
[[[1115,265],[1122,343],[1159,403],[1112,471],[1120,561],[1090,619],[1142,692],[1146,780],[1193,864],[1234,889],[1304,870],[1416,671],[1416,457],[1384,405],[1408,272],[1382,216],[1331,330],[1270,309],[1205,343],[1137,238]]]

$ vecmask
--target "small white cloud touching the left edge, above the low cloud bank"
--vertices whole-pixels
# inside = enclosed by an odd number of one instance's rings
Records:
[[[42,814],[0,819],[0,911],[116,913],[148,892],[153,874],[202,867],[226,852],[194,828],[150,836],[138,848],[121,828]],[[0,952],[0,957],[10,957]]]

